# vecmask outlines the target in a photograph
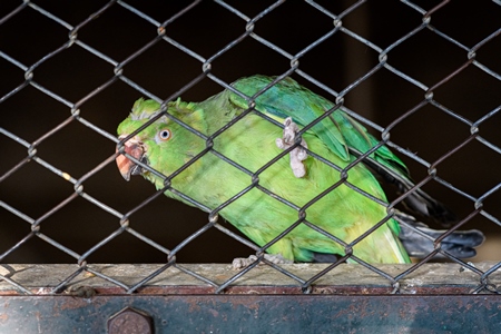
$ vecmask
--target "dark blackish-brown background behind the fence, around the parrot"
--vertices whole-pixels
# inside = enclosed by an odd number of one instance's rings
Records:
[[[444,1],[446,2],[446,1]],[[78,104],[80,120],[115,136],[136,99],[145,96],[115,73],[115,65],[124,62],[121,75],[144,90],[167,99],[203,72],[203,62],[178,47],[161,40],[130,58],[157,37],[154,21],[164,23],[166,36],[200,59],[209,59],[245,33],[246,20],[214,1],[60,1],[2,0],[0,2],[0,127],[32,144],[71,117]],[[255,18],[254,33],[289,55],[305,50],[334,29],[333,18],[307,2],[225,1],[248,18]],[[423,188],[456,213],[459,220],[474,209],[483,197],[484,215],[472,217],[464,226],[487,234],[487,243],[472,261],[501,259],[501,194],[491,191],[501,183],[501,6],[499,1],[451,1],[431,13],[432,29],[423,24],[423,12],[441,1],[316,1],[335,16],[342,27],[355,33],[336,31],[299,58],[299,69],[332,90],[347,89],[344,105],[384,128],[424,100],[424,90],[386,68],[381,68],[350,88],[380,63],[380,52],[366,41],[386,49],[387,63],[419,85],[433,87],[468,61],[468,50],[480,45],[475,60],[489,71],[470,63],[433,90],[433,99],[445,112],[430,104],[419,108],[391,130],[391,140],[432,164],[463,145],[470,137],[471,124],[479,124],[483,141],[471,140],[441,161],[438,175],[453,185],[454,191],[436,181]],[[105,6],[99,16],[87,20]],[[135,8],[137,12],[128,8]],[[17,10],[18,9],[18,10]],[[16,11],[17,10],[17,11]],[[87,21],[86,21],[87,20]],[[67,47],[71,27],[79,26],[77,40],[91,47],[98,57],[81,45]],[[412,36],[411,32],[415,31]],[[449,38],[444,38],[445,35]],[[456,41],[456,42],[454,42]],[[56,52],[55,52],[56,51]],[[32,71],[28,84],[24,73]],[[210,72],[225,82],[240,77],[281,75],[291,60],[253,37],[245,37],[212,61]],[[115,81],[111,81],[115,78]],[[324,97],[335,97],[301,76],[293,78]],[[104,86],[105,85],[105,86]],[[104,88],[96,92],[98,87]],[[223,88],[205,78],[181,91],[184,100],[200,101]],[[47,94],[50,92],[50,94]],[[56,97],[56,98],[55,98]],[[62,102],[62,101],[67,102]],[[371,126],[367,126],[371,128]],[[371,129],[377,137],[377,129]],[[80,179],[115,153],[115,141],[73,119],[37,146],[37,157]],[[66,200],[73,185],[46,167],[30,161],[10,173],[28,156],[28,149],[0,134],[0,200],[31,219],[38,219]],[[416,181],[428,168],[412,158],[402,159]],[[84,191],[118,213],[126,214],[155,193],[141,177],[126,183],[114,161],[84,181]],[[389,197],[394,189],[389,188]],[[488,218],[485,216],[491,216]],[[166,248],[178,243],[207,223],[207,214],[160,196],[134,213],[130,226]],[[428,222],[430,223],[430,222]],[[229,224],[225,227],[232,229]],[[434,228],[440,226],[432,225]],[[84,254],[119,227],[119,218],[77,196],[47,216],[40,232]],[[31,232],[26,219],[0,207],[0,254],[14,247]],[[180,263],[229,263],[247,256],[252,249],[209,229],[180,250]],[[164,253],[128,233],[122,233],[97,248],[89,263],[161,263]],[[38,237],[28,238],[2,259],[2,263],[75,263],[67,253]]]

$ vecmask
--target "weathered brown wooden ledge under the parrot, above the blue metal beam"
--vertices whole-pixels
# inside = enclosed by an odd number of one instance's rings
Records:
[[[483,262],[475,263],[474,266],[485,272],[495,264],[495,262]],[[161,266],[161,264],[88,265],[91,271],[112,277],[129,287],[136,285]],[[179,264],[178,266],[208,278],[216,286],[188,275],[176,267],[169,267],[148,281],[136,292],[144,294],[210,294],[217,289],[217,285],[224,284],[238,273],[229,264]],[[281,265],[281,267],[301,279],[308,281],[327,267],[327,265],[289,264]],[[411,265],[377,265],[377,268],[392,277],[400,275],[410,267]],[[63,279],[78,268],[77,265],[71,264],[0,265],[0,275],[35,294],[45,295],[52,293],[53,287],[60,285]],[[478,273],[452,263],[424,264],[399,282],[400,293],[406,294],[463,294],[472,292],[481,284]],[[489,276],[489,283],[494,286],[500,285],[501,271],[492,273]],[[112,282],[84,271],[71,279],[63,293],[68,294],[84,286],[94,289],[98,294],[122,294],[127,291]],[[387,278],[357,264],[342,264],[314,281],[312,286],[311,293],[323,294],[387,294],[393,291],[392,283]],[[295,294],[303,293],[301,287],[302,284],[299,282],[269,266],[259,265],[233,282],[225,289],[225,293]],[[0,277],[0,295],[14,295],[18,293],[18,288]]]

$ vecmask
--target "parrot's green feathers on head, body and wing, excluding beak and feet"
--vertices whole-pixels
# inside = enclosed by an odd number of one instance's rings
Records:
[[[240,79],[233,86],[247,96],[254,96],[271,81],[272,78],[255,76]],[[287,78],[262,94],[256,99],[255,109],[281,122],[291,116],[303,127],[332,107],[332,102]],[[227,90],[198,104],[177,100],[168,105],[168,114],[205,136],[215,134],[246,109],[247,102]],[[138,100],[130,116],[118,127],[118,134],[131,134],[158,110],[157,102]],[[166,116],[140,131],[136,139],[145,150],[148,165],[165,176],[191,163],[171,179],[171,187],[215,209],[249,187],[253,184],[250,174],[262,170],[265,164],[283,151],[275,144],[276,138],[282,138],[282,130],[253,111],[216,136],[212,150],[196,161],[193,158],[206,149],[206,140]],[[362,125],[341,110],[323,119],[302,137],[311,151],[340,168],[345,168],[355,159],[353,149],[364,153],[379,143]],[[217,157],[218,154],[248,173],[224,161]],[[381,147],[371,157],[395,174],[407,177],[403,163],[386,147]],[[297,178],[286,155],[257,175],[258,185],[299,208],[306,206],[308,222],[345,243],[358,238],[386,217],[383,205],[344,183],[312,204],[314,197],[340,181],[341,171],[312,156],[303,163],[306,175]],[[153,173],[143,169],[143,176],[158,189],[164,187],[164,180]],[[363,164],[350,168],[347,176],[350,185],[386,202],[379,181]],[[169,190],[165,194],[189,204]],[[259,246],[269,243],[298,219],[298,210],[258,188],[248,190],[219,214]],[[399,232],[396,222],[389,219],[354,246],[354,255],[370,263],[410,262],[396,237]],[[299,224],[267,252],[297,262],[311,262],[315,253],[344,255],[345,249],[327,236]]]

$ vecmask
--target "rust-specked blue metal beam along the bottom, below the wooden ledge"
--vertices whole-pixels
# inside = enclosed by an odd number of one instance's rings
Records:
[[[495,295],[9,296],[0,297],[0,333],[145,328],[132,317],[108,328],[124,310],[149,316],[153,333],[495,333],[500,302]]]

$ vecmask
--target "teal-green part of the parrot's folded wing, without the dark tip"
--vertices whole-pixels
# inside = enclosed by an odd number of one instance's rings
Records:
[[[237,90],[247,96],[254,96],[273,81],[271,77],[254,76],[243,78],[234,84]],[[237,95],[230,96],[232,102],[247,108],[247,102]],[[255,100],[255,109],[272,118],[285,119],[292,117],[299,126],[307,126],[316,118],[334,108],[334,104],[299,86],[291,78],[285,78],[266,91],[262,92]],[[366,153],[379,144],[367,129],[350,117],[346,112],[337,109],[312,127],[311,132],[322,139],[333,153],[345,161],[350,160],[351,148]],[[382,146],[372,155],[374,159],[389,168],[397,168],[399,173],[409,175],[405,165],[392,151]]]

